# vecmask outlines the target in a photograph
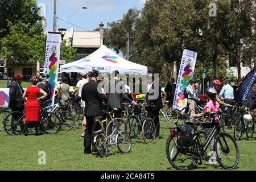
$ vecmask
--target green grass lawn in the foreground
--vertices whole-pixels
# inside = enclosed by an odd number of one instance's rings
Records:
[[[56,135],[29,134],[10,136],[0,131],[0,170],[159,170],[174,169],[166,157],[166,140],[170,124],[161,116],[160,138],[153,144],[132,139],[130,153],[121,154],[117,148],[110,151],[107,158],[84,154],[81,128],[60,131]],[[2,123],[0,128],[3,129]],[[256,141],[243,138],[238,141],[240,162],[235,170],[255,170]],[[38,152],[46,152],[46,164],[38,164]],[[195,170],[223,170],[219,165],[205,162]]]

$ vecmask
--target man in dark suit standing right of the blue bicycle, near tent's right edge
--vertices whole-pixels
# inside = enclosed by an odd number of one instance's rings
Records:
[[[148,78],[150,80],[150,78]],[[159,111],[163,108],[161,89],[159,87],[159,82],[156,80],[154,75],[152,75],[152,81],[149,90],[146,94],[146,104],[152,105],[147,108],[147,117],[153,119],[155,123],[155,139],[159,139],[159,130],[160,130],[160,122],[159,122]]]

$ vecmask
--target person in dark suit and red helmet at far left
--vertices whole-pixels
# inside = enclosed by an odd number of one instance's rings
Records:
[[[24,110],[24,101],[22,99],[22,94],[24,93],[24,90],[22,88],[22,81],[23,81],[23,75],[22,74],[16,74],[14,75],[13,83],[10,85],[9,90],[9,104],[8,107],[11,108],[11,111],[20,111],[22,112]],[[14,119],[18,119],[20,117],[20,114],[13,114]],[[11,123],[11,129],[12,132],[16,132],[16,127],[13,126],[13,123]],[[23,128],[22,128],[23,129]]]

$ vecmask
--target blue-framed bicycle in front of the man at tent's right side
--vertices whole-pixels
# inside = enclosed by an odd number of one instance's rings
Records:
[[[125,123],[127,125],[127,133],[129,134],[130,138],[136,138],[141,130],[144,142],[150,144],[155,139],[156,129],[154,121],[151,118],[146,117],[144,109],[145,106],[150,105],[142,104],[135,107],[133,114],[127,115]],[[108,125],[113,125],[113,122],[110,121]],[[108,126],[106,131],[108,131]]]

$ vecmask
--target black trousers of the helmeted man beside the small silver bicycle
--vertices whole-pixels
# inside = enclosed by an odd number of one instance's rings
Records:
[[[93,143],[93,133],[94,131],[98,131],[101,129],[100,123],[98,122],[98,119],[93,119],[94,116],[86,116],[86,129],[85,129],[85,135],[84,135],[84,152],[89,153],[91,151],[96,152],[96,148]]]

